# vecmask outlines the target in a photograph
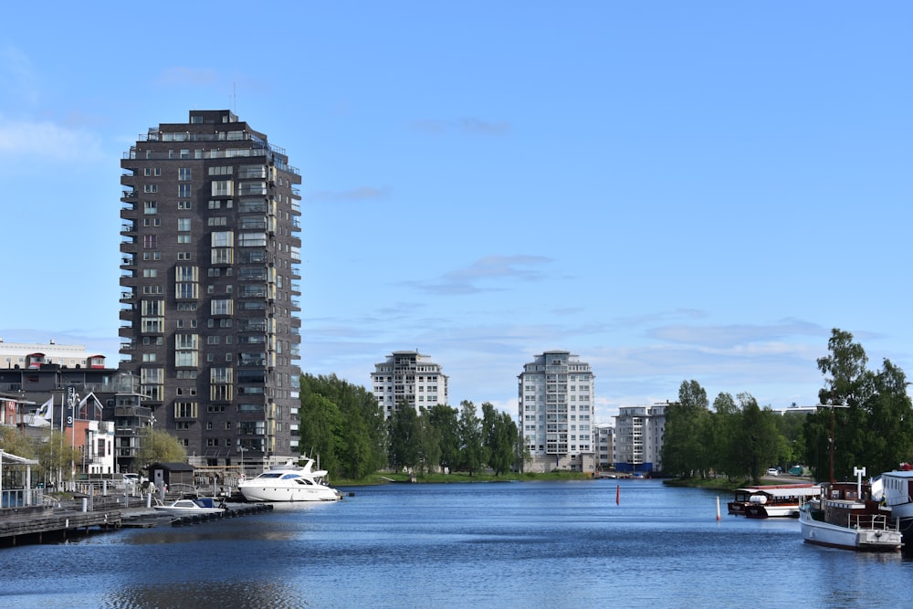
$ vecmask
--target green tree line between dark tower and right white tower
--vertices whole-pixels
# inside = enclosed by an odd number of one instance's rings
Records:
[[[330,376],[301,376],[301,448],[320,455],[331,476],[360,479],[385,467],[415,472],[487,468],[501,475],[518,462],[519,429],[488,402],[405,406],[384,419],[364,387]]]

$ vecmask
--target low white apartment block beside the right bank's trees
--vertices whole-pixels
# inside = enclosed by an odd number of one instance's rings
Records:
[[[622,406],[615,415],[614,462],[620,472],[663,470],[666,406]]]

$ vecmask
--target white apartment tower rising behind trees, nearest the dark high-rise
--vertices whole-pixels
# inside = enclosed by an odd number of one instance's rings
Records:
[[[371,386],[384,418],[406,404],[421,412],[447,404],[447,376],[431,356],[417,351],[394,351],[385,362],[375,363]]]

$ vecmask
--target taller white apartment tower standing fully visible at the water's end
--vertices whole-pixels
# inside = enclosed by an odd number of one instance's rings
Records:
[[[532,457],[528,471],[594,472],[595,384],[590,364],[547,351],[517,377],[519,433]]]

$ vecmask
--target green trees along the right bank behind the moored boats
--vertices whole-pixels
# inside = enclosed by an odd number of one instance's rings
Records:
[[[817,360],[824,374],[820,407],[813,414],[777,415],[747,393],[720,393],[712,410],[697,381],[684,381],[678,401],[666,408],[663,469],[680,477],[725,474],[760,481],[768,467],[802,463],[813,477],[834,478],[853,467],[870,475],[913,458],[913,405],[906,375],[885,359],[877,371],[850,332],[834,329],[829,354]]]

